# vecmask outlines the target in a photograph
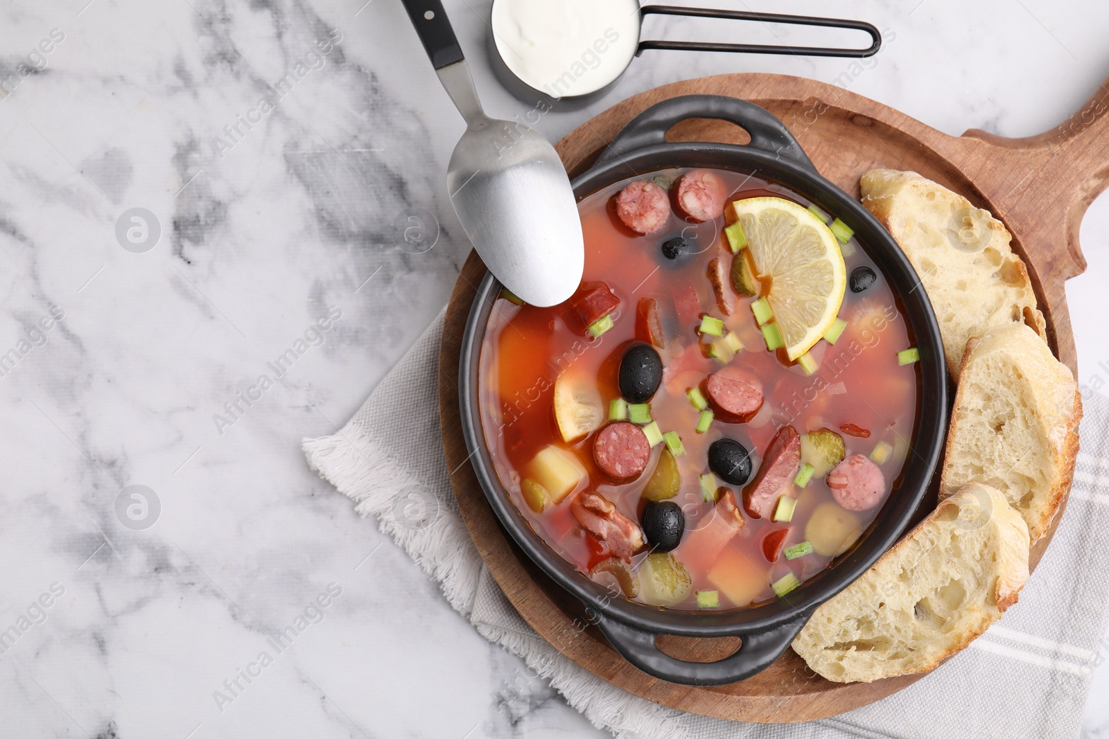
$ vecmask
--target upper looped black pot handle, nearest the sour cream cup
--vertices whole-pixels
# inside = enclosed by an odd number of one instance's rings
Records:
[[[628,152],[667,143],[667,132],[686,119],[719,119],[734,123],[751,135],[753,148],[784,156],[816,172],[785,124],[765,107],[724,95],[681,95],[664,100],[633,117],[598,157],[601,164]]]

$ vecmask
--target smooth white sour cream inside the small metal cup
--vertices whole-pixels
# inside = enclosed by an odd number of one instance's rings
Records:
[[[584,95],[627,69],[638,0],[496,0],[492,33],[512,74],[551,97]]]

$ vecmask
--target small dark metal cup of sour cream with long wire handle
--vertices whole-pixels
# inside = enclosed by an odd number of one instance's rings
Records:
[[[489,61],[509,92],[523,102],[573,110],[602,96],[631,60],[647,49],[730,51],[751,54],[871,57],[882,34],[871,23],[835,18],[756,13],[740,10],[639,6],[638,0],[494,0],[489,18]],[[787,47],[703,41],[642,40],[643,18],[685,16],[817,25],[864,31],[865,49]]]

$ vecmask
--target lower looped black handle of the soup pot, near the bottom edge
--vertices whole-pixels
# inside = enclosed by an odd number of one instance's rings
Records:
[[[793,620],[769,630],[737,635],[743,640],[740,648],[714,663],[692,663],[671,657],[655,646],[658,634],[629,626],[598,610],[593,612],[593,623],[620,656],[652,677],[680,685],[729,685],[770,667],[811,615],[801,613]]]

